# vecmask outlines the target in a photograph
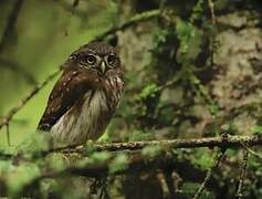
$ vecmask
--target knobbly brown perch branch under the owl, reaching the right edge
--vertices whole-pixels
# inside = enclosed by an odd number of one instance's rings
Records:
[[[262,145],[262,135],[251,136],[228,136],[223,137],[208,137],[198,139],[170,139],[170,140],[149,140],[149,142],[128,142],[128,143],[94,143],[93,146],[96,150],[139,150],[147,146],[160,146],[163,148],[199,148],[199,147],[220,147],[232,148],[242,147],[242,144],[248,146]],[[75,151],[82,153],[84,147],[61,147],[52,149],[52,151]]]

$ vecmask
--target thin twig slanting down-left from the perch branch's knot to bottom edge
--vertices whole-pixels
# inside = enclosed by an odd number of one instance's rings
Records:
[[[201,196],[203,189],[207,187],[207,184],[209,182],[211,176],[213,175],[214,170],[218,168],[221,159],[224,156],[226,150],[221,149],[221,151],[219,151],[214,159],[213,159],[213,165],[212,167],[207,171],[207,175],[202,181],[202,184],[200,185],[200,187],[198,188],[198,190],[196,191],[196,193],[193,195],[193,199],[197,199]]]

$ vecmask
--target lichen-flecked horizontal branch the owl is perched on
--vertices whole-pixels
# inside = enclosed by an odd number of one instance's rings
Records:
[[[86,147],[92,148],[94,151],[125,151],[125,150],[142,150],[145,147],[159,147],[161,149],[177,149],[177,148],[243,148],[244,146],[262,146],[262,135],[250,135],[250,136],[230,136],[227,137],[208,137],[208,138],[196,138],[196,139],[169,139],[169,140],[148,140],[148,142],[126,142],[126,143],[93,143],[87,142],[85,146],[73,145],[51,148],[48,150],[36,151],[38,156],[44,157],[52,153],[63,154],[84,154]],[[21,156],[22,154],[19,154]],[[0,154],[1,157],[12,158],[15,157],[11,154]]]

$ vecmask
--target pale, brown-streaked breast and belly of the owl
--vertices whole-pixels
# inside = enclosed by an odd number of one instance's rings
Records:
[[[57,121],[51,134],[56,142],[70,145],[96,140],[104,133],[113,112],[103,90],[88,91],[81,104],[73,106]]]

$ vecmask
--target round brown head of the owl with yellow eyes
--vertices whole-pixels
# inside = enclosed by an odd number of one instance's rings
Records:
[[[95,71],[105,75],[108,71],[120,67],[120,59],[114,46],[104,42],[91,42],[72,53],[70,61],[77,67]]]

